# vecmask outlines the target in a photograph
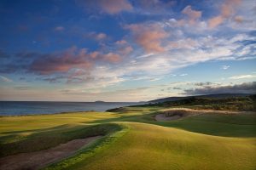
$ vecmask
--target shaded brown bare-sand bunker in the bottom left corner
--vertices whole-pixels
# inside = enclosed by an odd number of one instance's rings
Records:
[[[74,139],[66,144],[60,144],[48,150],[40,150],[30,153],[21,153],[14,156],[6,156],[0,159],[0,169],[2,170],[32,170],[45,167],[49,163],[61,160],[73,155],[85,144],[101,138],[101,136],[86,139]]]

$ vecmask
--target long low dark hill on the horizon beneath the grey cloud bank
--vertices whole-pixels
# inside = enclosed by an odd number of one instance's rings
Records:
[[[251,94],[207,94],[207,95],[185,96],[185,97],[169,97],[169,98],[163,98],[163,99],[150,100],[150,101],[148,101],[148,103],[162,103],[162,102],[166,102],[166,101],[177,101],[177,100],[188,99],[188,98],[192,98],[192,97],[223,99],[223,98],[231,98],[231,97],[246,97],[249,95],[251,95]]]

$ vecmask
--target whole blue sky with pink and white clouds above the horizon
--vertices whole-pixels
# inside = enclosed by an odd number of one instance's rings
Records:
[[[256,94],[254,0],[1,0],[0,100]]]

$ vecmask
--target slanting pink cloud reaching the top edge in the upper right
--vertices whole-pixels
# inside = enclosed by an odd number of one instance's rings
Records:
[[[230,19],[236,14],[236,8],[241,3],[241,0],[225,0],[220,7],[220,14],[208,20],[209,27],[215,28],[224,23],[225,20]]]

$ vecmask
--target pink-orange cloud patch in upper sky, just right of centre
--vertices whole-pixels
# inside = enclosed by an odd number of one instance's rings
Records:
[[[162,40],[169,34],[158,25],[133,24],[125,26],[132,31],[137,44],[142,46],[148,53],[163,52]]]

